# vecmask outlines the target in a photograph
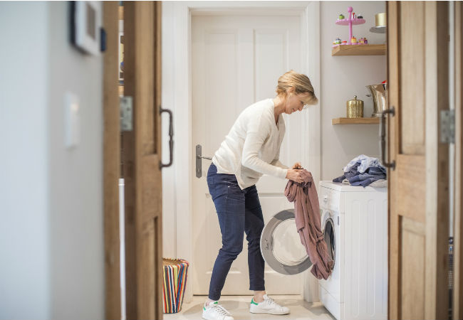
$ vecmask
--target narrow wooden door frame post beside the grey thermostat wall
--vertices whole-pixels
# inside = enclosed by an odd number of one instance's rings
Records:
[[[121,319],[119,239],[119,20],[118,1],[103,4],[103,206],[105,234],[105,319]]]

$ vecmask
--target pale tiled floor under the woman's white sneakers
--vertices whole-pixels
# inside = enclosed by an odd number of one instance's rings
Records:
[[[274,316],[271,314],[249,313],[249,302],[251,296],[222,296],[220,303],[227,309],[235,320],[244,319],[271,319],[271,320],[308,320],[308,319],[329,319],[333,316],[325,309],[321,302],[308,303],[303,301],[299,295],[294,296],[271,296],[276,302],[288,306],[291,314],[285,316]],[[202,306],[206,296],[194,296],[192,302],[183,304],[182,311],[178,314],[165,314],[166,320],[199,320],[202,319]]]

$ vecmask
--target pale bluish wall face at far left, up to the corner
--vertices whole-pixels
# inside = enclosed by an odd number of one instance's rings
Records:
[[[48,319],[48,5],[0,3],[0,319]]]

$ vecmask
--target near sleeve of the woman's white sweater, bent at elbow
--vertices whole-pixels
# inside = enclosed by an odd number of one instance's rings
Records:
[[[263,117],[256,117],[256,119],[249,124],[246,132],[246,139],[244,139],[241,164],[261,174],[268,174],[269,176],[276,176],[277,178],[286,178],[286,169],[273,164],[267,164],[265,161],[259,159],[259,151],[270,132],[271,128],[266,124]]]

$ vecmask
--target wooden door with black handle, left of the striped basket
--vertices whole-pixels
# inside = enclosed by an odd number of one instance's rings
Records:
[[[124,94],[133,129],[123,133],[127,319],[162,319],[161,3],[124,3]]]

